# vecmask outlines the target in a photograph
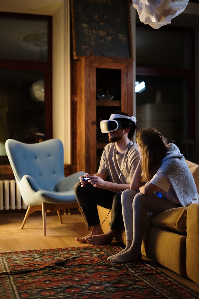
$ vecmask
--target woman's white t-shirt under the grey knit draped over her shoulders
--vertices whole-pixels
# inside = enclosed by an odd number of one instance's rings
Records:
[[[153,176],[153,178],[149,181],[149,183],[158,187],[155,192],[162,193],[162,198],[172,202],[176,205],[180,204],[179,200],[176,198],[175,192],[171,183],[166,178],[166,176],[162,173],[161,170]],[[198,203],[199,202],[199,195],[197,195],[190,201],[189,204]]]

